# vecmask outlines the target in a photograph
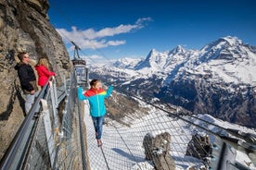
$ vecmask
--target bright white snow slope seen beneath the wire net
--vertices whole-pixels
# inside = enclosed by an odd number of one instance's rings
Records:
[[[111,98],[115,98],[114,100],[117,100],[116,96],[110,97],[109,100],[111,100]],[[203,130],[203,128],[208,129],[213,133],[218,133],[226,128],[237,129],[244,133],[255,133],[255,131],[253,131],[250,128],[240,127],[235,124],[220,121],[218,119],[215,119],[211,115],[198,115],[198,118],[194,118],[194,120],[193,117],[188,116],[190,122],[193,122],[199,127],[202,127],[198,128],[191,124],[187,124],[182,119],[173,119],[173,117],[168,116],[167,113],[162,112],[152,107],[151,105],[147,105],[146,103],[144,103],[143,107],[148,108],[149,110],[147,115],[136,115],[135,113],[129,116],[125,115],[124,117],[122,117],[122,124],[119,123],[120,121],[118,122],[117,120],[113,119],[107,119],[107,121],[105,121],[107,123],[104,126],[102,140],[104,143],[103,151],[108,156],[107,158],[104,158],[102,154],[97,153],[100,152],[100,150],[96,145],[93,122],[88,114],[88,103],[87,101],[84,103],[86,105],[84,114],[84,124],[87,129],[86,135],[89,156],[88,159],[90,160],[90,165],[92,169],[108,169],[108,166],[104,164],[106,159],[109,164],[109,169],[154,169],[152,162],[145,159],[146,155],[143,146],[143,141],[147,133],[150,133],[153,137],[156,137],[157,135],[163,132],[167,132],[171,135],[170,155],[174,160],[175,169],[177,170],[188,170],[189,168],[192,169],[192,167],[194,167],[193,169],[199,169],[195,167],[199,167],[202,165],[202,162],[197,158],[193,158],[191,156],[186,155],[187,143],[189,142],[189,140],[191,140],[192,136],[195,133],[201,134],[202,136],[210,135],[211,145],[217,146],[217,141],[219,141],[219,139],[216,138],[216,136],[212,135],[211,133],[207,133],[205,130]],[[183,118],[186,119],[186,117]],[[211,122],[211,125],[202,122],[199,119],[204,119],[205,121]],[[228,136],[228,134],[226,135]],[[218,150],[216,151],[219,154],[222,153],[221,148],[218,148]],[[250,157],[246,153],[234,150],[232,151],[233,152],[231,157],[228,157],[227,153],[225,152],[225,155],[223,155],[222,158],[224,160],[234,159],[236,160],[236,164],[242,164],[243,168],[255,170],[255,164],[252,164]],[[217,166],[218,162],[221,162],[219,160],[220,155],[214,156],[216,157],[213,157],[212,155],[212,159],[210,160],[210,165],[212,167],[213,165]],[[223,161],[223,166],[225,166],[225,164],[226,162]],[[231,160],[229,160],[227,164],[230,165],[234,163]]]

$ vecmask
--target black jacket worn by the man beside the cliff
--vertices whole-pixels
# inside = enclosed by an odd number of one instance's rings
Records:
[[[32,67],[20,62],[15,66],[15,69],[18,71],[21,89],[28,91],[27,93],[33,90],[36,91],[36,87],[33,85],[34,82],[36,85],[36,77]]]

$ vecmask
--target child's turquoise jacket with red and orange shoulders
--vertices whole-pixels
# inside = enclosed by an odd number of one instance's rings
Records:
[[[106,115],[106,106],[104,103],[104,99],[109,97],[111,92],[113,91],[113,87],[109,86],[108,91],[104,91],[103,89],[90,89],[83,93],[82,87],[79,87],[78,99],[79,100],[88,100],[90,104],[90,115],[94,117]]]

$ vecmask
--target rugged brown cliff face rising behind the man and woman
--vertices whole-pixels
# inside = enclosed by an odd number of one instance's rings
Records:
[[[71,69],[61,37],[49,22],[48,8],[47,0],[0,0],[0,157],[24,118],[16,55],[26,51],[35,62],[47,57],[58,85]]]

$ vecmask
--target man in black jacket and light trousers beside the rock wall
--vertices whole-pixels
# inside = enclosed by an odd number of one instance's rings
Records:
[[[38,90],[36,85],[35,73],[29,64],[30,56],[28,53],[21,52],[18,54],[19,63],[15,66],[18,71],[21,89],[25,94],[25,112],[28,114],[34,102],[35,93]]]

